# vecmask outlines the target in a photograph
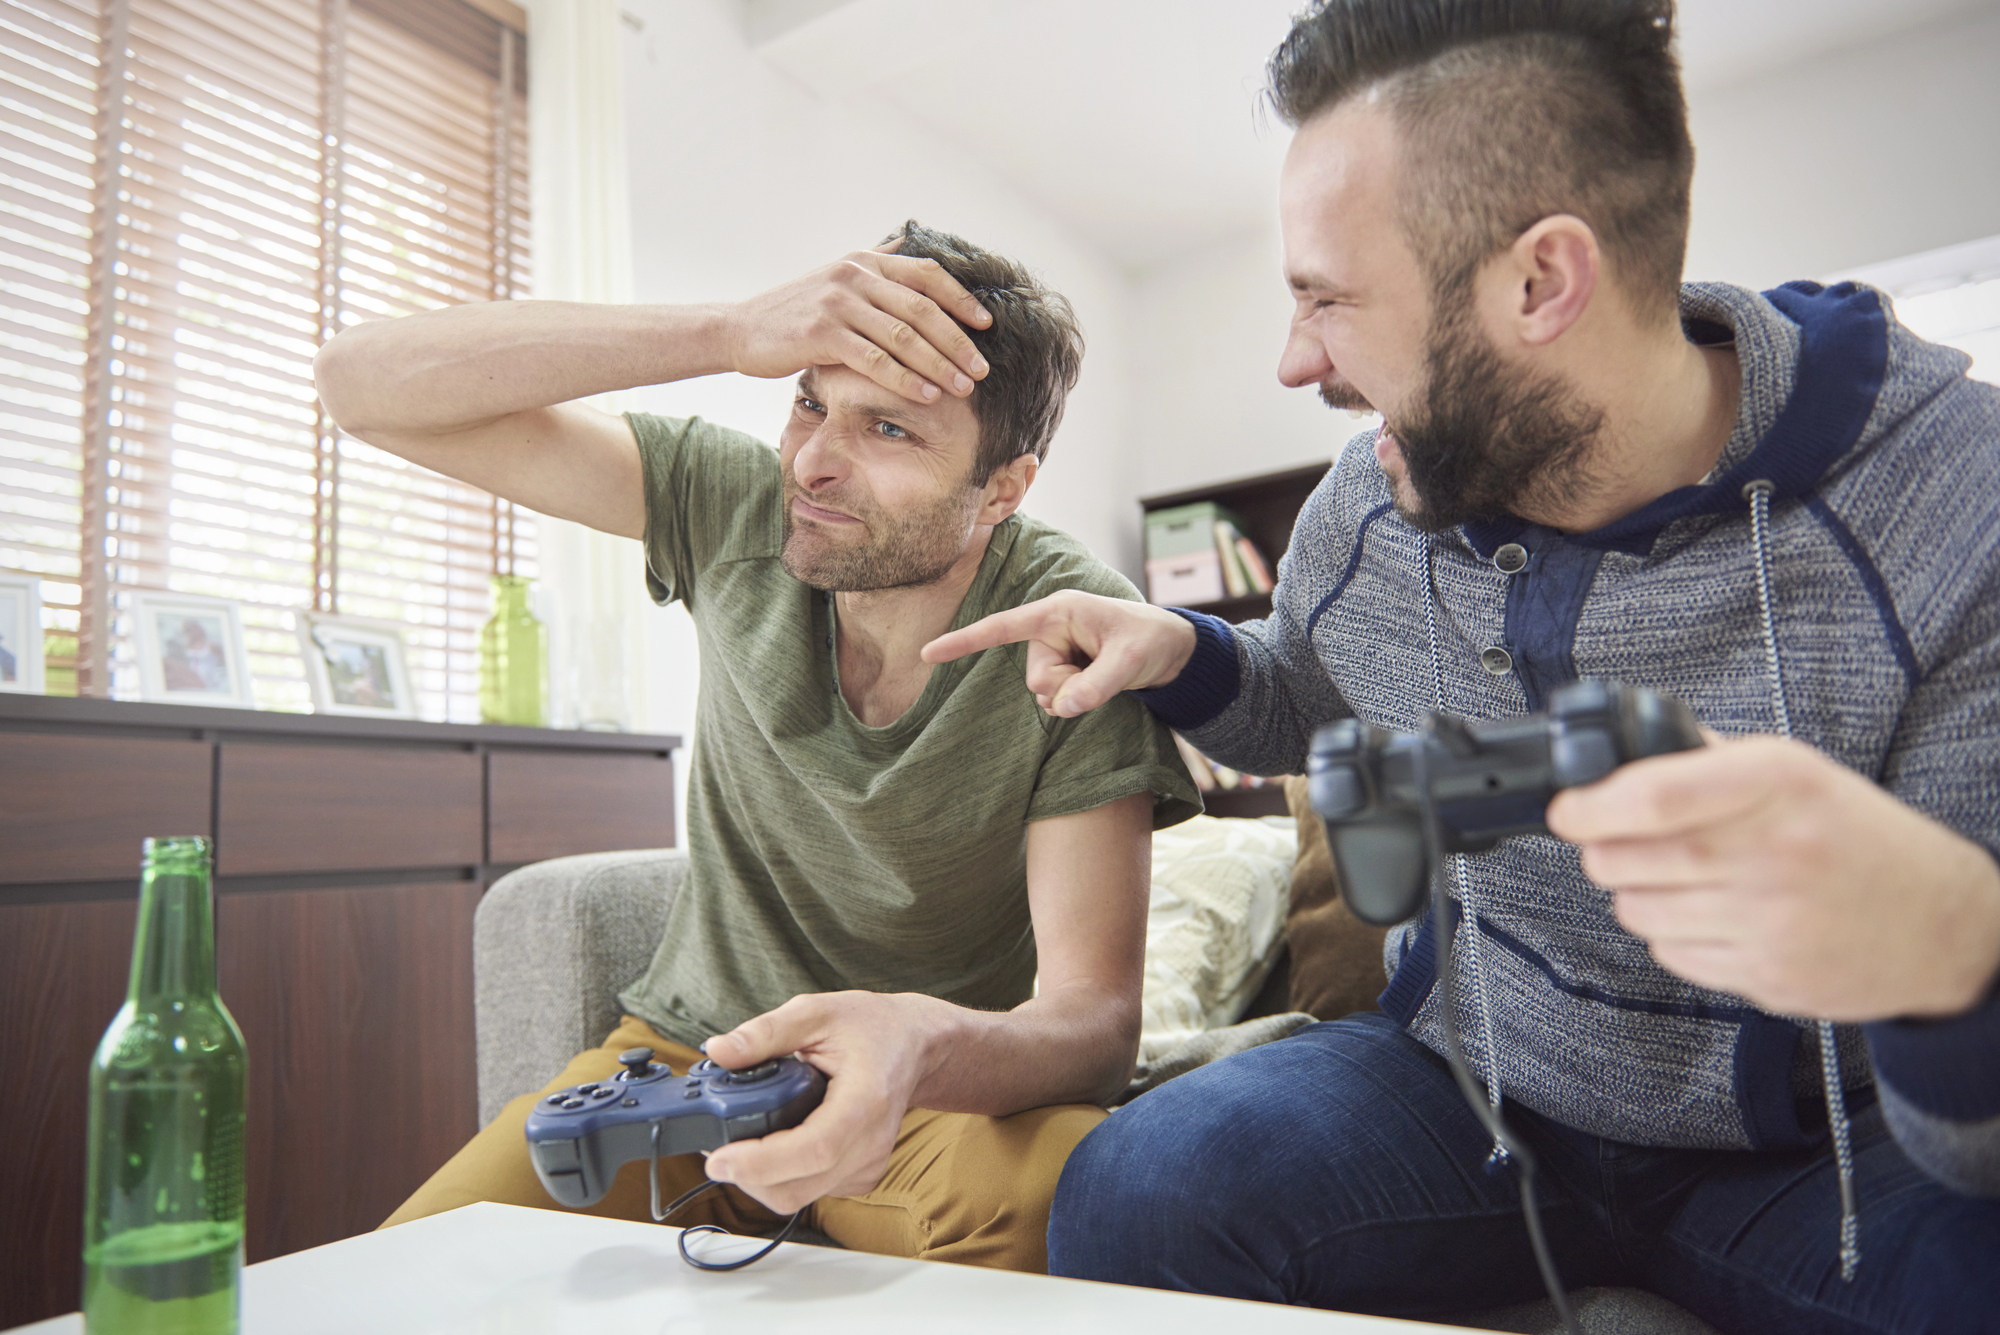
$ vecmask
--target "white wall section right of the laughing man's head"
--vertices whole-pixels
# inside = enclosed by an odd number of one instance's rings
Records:
[[[2000,234],[2000,4],[1688,96],[1688,276],[1770,288]]]

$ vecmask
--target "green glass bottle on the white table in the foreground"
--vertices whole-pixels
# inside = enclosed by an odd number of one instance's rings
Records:
[[[132,979],[90,1063],[88,1335],[234,1335],[244,1035],[216,995],[208,839],[146,839]]]

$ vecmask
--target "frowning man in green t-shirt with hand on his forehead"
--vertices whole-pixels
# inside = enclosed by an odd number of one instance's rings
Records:
[[[694,616],[688,875],[626,1021],[548,1087],[634,1045],[826,1071],[804,1125],[662,1163],[674,1191],[740,1187],[726,1225],[812,1205],[850,1247],[1042,1269],[1062,1161],[1130,1077],[1150,829],[1198,811],[1172,739],[1134,701],[1048,715],[1032,650],[920,656],[1058,590],[1136,598],[1016,514],[1080,358],[1060,296],[916,224],[734,306],[460,306],[320,352],[346,432],[642,540],[652,596]],[[800,374],[776,452],[572,402],[724,370]],[[390,1223],[552,1207],[532,1101]],[[644,1165],[594,1211],[648,1217]]]

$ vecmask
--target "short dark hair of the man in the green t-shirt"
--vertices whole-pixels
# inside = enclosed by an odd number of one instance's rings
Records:
[[[980,424],[972,486],[986,486],[994,470],[1024,454],[1046,460],[1048,442],[1062,424],[1062,404],[1084,366],[1076,312],[1014,260],[914,218],[884,238],[888,242],[902,242],[896,246],[900,256],[936,260],[994,318],[984,330],[966,328],[990,368],[972,392],[972,416]]]

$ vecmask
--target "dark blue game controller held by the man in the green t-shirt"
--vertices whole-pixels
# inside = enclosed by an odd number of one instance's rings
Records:
[[[796,1127],[826,1095],[798,1057],[728,1071],[706,1057],[686,1075],[650,1047],[618,1053],[618,1075],[546,1095],[528,1113],[528,1157],[552,1197],[596,1205],[626,1163],[686,1155]]]

